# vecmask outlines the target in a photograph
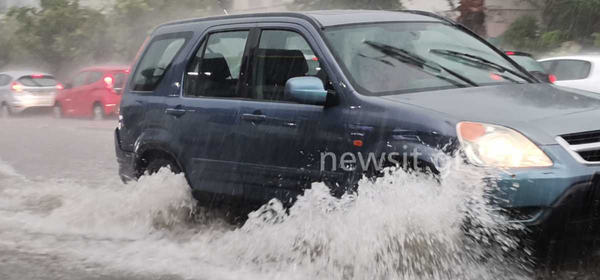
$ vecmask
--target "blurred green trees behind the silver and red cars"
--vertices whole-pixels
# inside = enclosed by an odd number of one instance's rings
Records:
[[[222,13],[216,3],[116,0],[101,11],[79,0],[41,0],[39,8],[11,8],[0,18],[0,68],[28,65],[56,73],[89,64],[128,64],[157,25]]]

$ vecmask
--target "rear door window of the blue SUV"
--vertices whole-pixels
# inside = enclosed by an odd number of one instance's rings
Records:
[[[238,97],[248,31],[229,31],[209,35],[185,74],[184,96]]]

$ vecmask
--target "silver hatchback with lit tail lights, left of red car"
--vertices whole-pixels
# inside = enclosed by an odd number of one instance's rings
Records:
[[[11,71],[0,73],[0,118],[37,107],[52,108],[62,85],[46,73]]]

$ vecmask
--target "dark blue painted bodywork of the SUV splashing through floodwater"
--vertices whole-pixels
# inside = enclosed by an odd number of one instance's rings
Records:
[[[439,21],[416,14],[382,13],[376,18]],[[320,31],[321,26],[366,22],[366,15],[373,21],[373,12],[358,14],[357,19],[324,12],[257,14],[186,20],[158,28],[153,37],[192,31],[193,38],[156,91],[125,89],[121,104],[124,127],[116,131],[121,175],[134,177],[143,152],[161,149],[178,161],[199,196],[250,204],[274,197],[290,201],[311,182],[327,180],[343,186],[356,175],[332,170],[331,165],[326,165],[329,170],[321,171],[322,152],[340,156],[345,152],[389,153],[416,148],[423,153],[419,158],[422,162],[431,162],[440,151],[452,154],[458,149],[458,122],[478,121],[520,131],[555,162],[548,168],[509,170],[499,182],[501,198],[506,199],[500,202],[502,206],[537,206],[550,213],[572,186],[592,182],[598,166],[578,163],[554,137],[600,128],[600,100],[595,95],[545,83],[387,97],[358,94],[335,62]],[[335,95],[328,97],[325,106],[311,105],[313,102],[182,97],[185,67],[202,38],[210,31],[239,27],[281,27],[301,32],[328,71]],[[300,94],[299,89],[311,91]],[[289,84],[289,92],[297,92],[292,95],[315,95],[314,89],[310,85]],[[185,113],[174,116],[167,114],[167,109]],[[353,146],[353,140],[362,140],[364,145]],[[514,184],[520,187],[512,190]],[[539,223],[548,215],[530,222]]]

